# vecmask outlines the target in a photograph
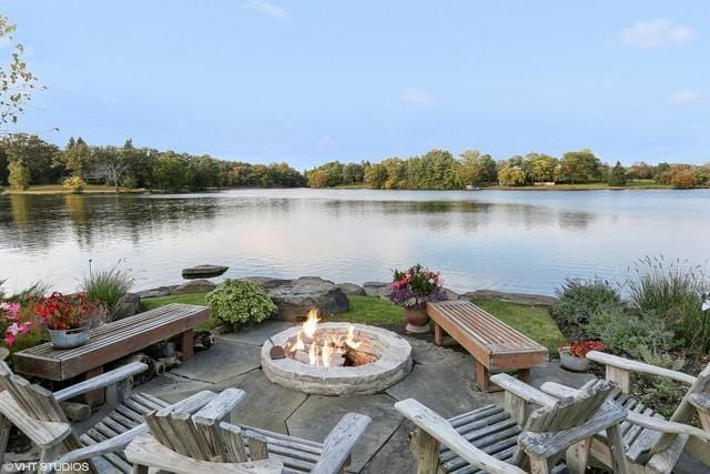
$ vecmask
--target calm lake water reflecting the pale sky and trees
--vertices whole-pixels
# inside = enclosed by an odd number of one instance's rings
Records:
[[[93,265],[146,289],[203,263],[226,276],[388,281],[422,262],[457,291],[552,294],[566,276],[622,282],[645,255],[710,259],[710,191],[236,190],[0,195],[0,279],[70,291]]]

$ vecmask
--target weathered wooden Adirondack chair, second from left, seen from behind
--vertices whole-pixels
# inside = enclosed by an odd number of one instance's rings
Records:
[[[149,467],[192,474],[343,472],[351,452],[369,424],[369,417],[348,413],[324,444],[263,430],[240,427],[225,420],[244,399],[244,392],[227,389],[197,413],[161,410],[145,417],[150,434],[125,448],[135,474]]]

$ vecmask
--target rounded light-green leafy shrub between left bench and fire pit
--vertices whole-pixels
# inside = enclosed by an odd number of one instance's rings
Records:
[[[261,322],[273,316],[277,307],[258,283],[226,280],[206,294],[212,317],[226,323]]]

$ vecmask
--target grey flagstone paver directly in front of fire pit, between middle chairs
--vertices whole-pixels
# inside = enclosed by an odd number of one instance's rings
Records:
[[[286,421],[286,426],[294,436],[323,441],[346,413],[368,415],[373,421],[353,451],[353,462],[347,468],[359,472],[404,421],[394,403],[395,400],[386,394],[311,395]]]

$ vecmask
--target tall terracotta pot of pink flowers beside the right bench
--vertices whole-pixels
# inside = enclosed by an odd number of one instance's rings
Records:
[[[395,270],[389,286],[389,301],[404,307],[407,331],[425,333],[429,331],[426,314],[428,301],[446,300],[439,272],[425,269],[419,263],[403,271]]]

